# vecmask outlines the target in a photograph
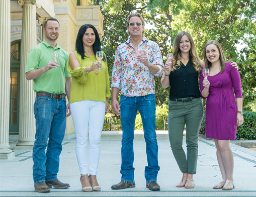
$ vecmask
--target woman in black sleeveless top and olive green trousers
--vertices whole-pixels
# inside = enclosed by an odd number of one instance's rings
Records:
[[[198,157],[198,135],[203,119],[203,105],[198,86],[198,74],[204,62],[197,55],[194,41],[188,32],[180,32],[174,44],[173,62],[165,63],[161,78],[163,88],[170,85],[168,133],[170,146],[183,173],[177,187],[194,188]],[[170,66],[172,71],[170,71]],[[186,124],[187,157],[182,148]]]

